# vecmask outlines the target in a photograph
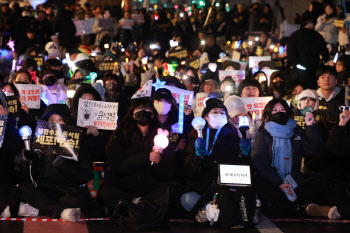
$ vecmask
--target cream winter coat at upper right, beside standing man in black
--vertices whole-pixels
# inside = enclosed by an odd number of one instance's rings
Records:
[[[326,23],[323,23],[323,19],[326,17],[325,14],[321,15],[317,19],[317,24],[315,30],[319,32],[326,43],[328,44],[337,44],[338,42],[338,31],[334,26],[335,18],[330,18]]]

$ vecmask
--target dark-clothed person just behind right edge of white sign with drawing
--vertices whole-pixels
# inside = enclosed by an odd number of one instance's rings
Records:
[[[124,80],[123,77],[116,74],[106,73],[103,78],[103,87],[105,88],[105,100],[106,102],[117,102],[118,105],[118,118],[121,120],[127,114],[130,100],[127,93],[123,90]]]

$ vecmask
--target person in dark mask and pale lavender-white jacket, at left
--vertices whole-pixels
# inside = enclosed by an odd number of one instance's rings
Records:
[[[43,70],[41,79],[41,100],[46,105],[58,104],[60,101],[68,101],[67,87],[61,83],[58,83],[57,71],[55,70]]]

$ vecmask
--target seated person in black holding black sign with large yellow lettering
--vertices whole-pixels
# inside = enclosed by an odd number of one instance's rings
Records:
[[[71,113],[65,104],[48,106],[41,120],[43,121],[40,122],[54,122],[72,128]],[[57,125],[55,128],[57,128],[56,132],[53,131],[53,128],[44,129],[42,134],[45,139],[44,144],[40,143],[41,151],[44,152],[23,150],[23,156],[30,161],[31,165],[28,182],[19,185],[20,200],[23,203],[28,203],[30,206],[21,205],[27,206],[25,209],[31,211],[21,212],[21,216],[36,216],[40,213],[51,218],[76,222],[80,219],[81,208],[87,208],[91,198],[85,185],[93,178],[92,161],[90,154],[86,151],[88,142],[80,137],[80,133],[74,134],[76,141],[81,141],[79,155],[75,155],[75,159],[74,156],[66,157],[63,154],[47,152],[54,150],[53,146],[45,146],[50,145],[50,142],[53,145],[55,138],[53,135],[64,131]],[[64,133],[71,134],[68,131]],[[36,136],[38,137],[38,135]],[[59,139],[62,140],[62,138],[57,137],[56,141],[58,142]],[[34,142],[38,141],[34,140]],[[72,147],[67,147],[65,144],[63,147],[68,151],[73,150]]]

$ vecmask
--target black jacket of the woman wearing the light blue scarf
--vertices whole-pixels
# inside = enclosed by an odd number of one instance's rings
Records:
[[[294,135],[290,139],[292,142],[292,171],[291,176],[300,184],[303,182],[303,175],[300,171],[302,157],[317,153],[322,145],[317,126],[305,126],[305,130],[297,126]],[[253,165],[256,168],[256,177],[267,180],[273,185],[283,184],[277,170],[271,166],[272,163],[273,137],[266,129],[259,129],[251,151]]]

